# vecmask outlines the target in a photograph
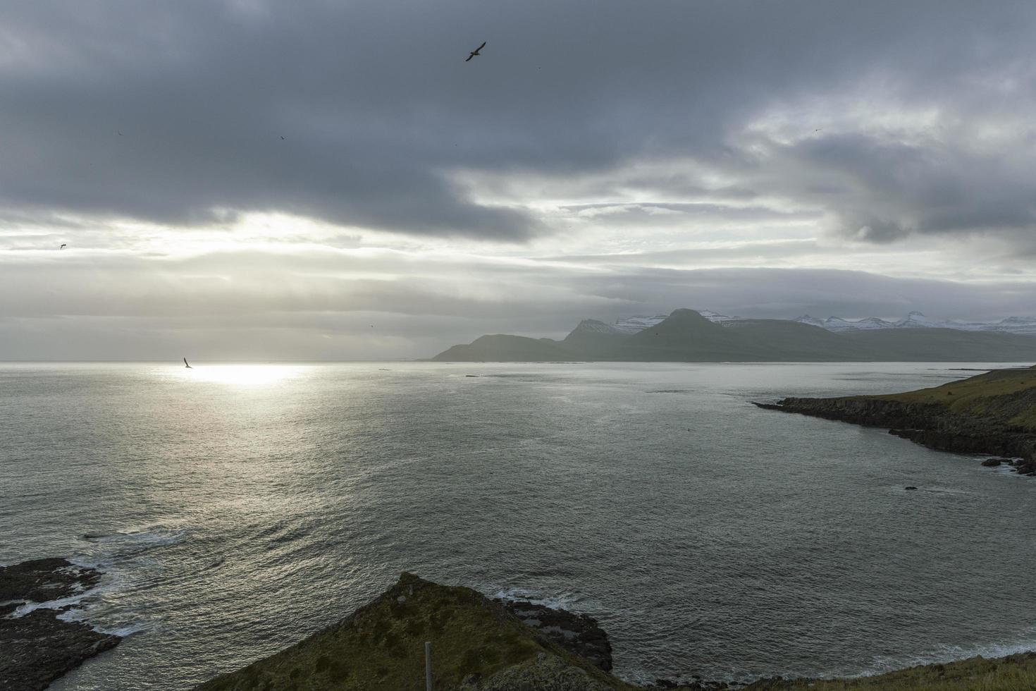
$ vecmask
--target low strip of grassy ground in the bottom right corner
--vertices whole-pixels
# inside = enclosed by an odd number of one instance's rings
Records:
[[[997,660],[971,658],[948,664],[900,669],[879,676],[850,680],[757,683],[746,691],[1032,691],[1036,689],[1036,654]]]

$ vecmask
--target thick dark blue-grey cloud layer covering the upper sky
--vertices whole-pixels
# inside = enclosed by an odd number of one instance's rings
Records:
[[[682,156],[860,239],[1034,224],[1031,132],[990,144],[969,127],[1033,113],[1028,0],[0,7],[6,213],[285,211],[521,240],[548,230],[536,212],[480,203],[453,173],[578,177]],[[851,93],[959,126],[902,141],[887,122],[839,124]],[[745,135],[811,99],[833,99],[798,123],[835,121],[815,137]],[[704,189],[679,171],[658,182]]]

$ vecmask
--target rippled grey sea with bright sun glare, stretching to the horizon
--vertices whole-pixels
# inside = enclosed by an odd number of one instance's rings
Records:
[[[750,404],[990,367],[0,364],[0,563],[106,572],[70,615],[132,635],[59,690],[190,688],[403,570],[589,613],[630,681],[1036,649],[1034,479]]]

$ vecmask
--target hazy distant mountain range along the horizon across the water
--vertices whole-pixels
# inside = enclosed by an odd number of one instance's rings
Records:
[[[1036,337],[950,328],[833,333],[780,319],[715,323],[693,310],[628,334],[592,319],[563,341],[483,336],[435,355],[441,362],[610,361],[656,363],[745,362],[1027,362]]]

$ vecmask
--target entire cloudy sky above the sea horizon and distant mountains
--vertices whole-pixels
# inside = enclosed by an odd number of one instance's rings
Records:
[[[0,0],[0,359],[1033,316],[1034,37],[1031,0]]]

